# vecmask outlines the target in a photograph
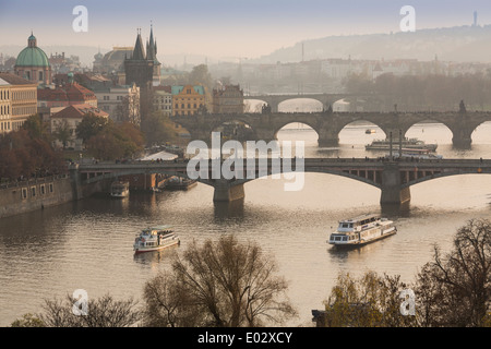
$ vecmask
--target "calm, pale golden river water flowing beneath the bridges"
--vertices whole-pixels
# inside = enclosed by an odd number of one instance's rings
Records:
[[[383,132],[373,125],[348,125],[336,148],[319,148],[316,133],[290,124],[278,139],[306,142],[306,157],[380,156],[364,151]],[[366,134],[367,128],[376,130]],[[450,131],[438,123],[411,128],[407,136],[438,142],[445,158],[490,158],[491,123],[472,135],[470,151],[452,148]],[[298,192],[284,191],[284,180],[255,180],[244,185],[246,198],[233,205],[213,203],[203,184],[188,192],[131,193],[122,201],[94,196],[0,220],[0,326],[40,311],[44,299],[62,298],[76,289],[88,297],[110,293],[140,299],[145,281],[169,267],[195,239],[235,233],[254,240],[278,264],[289,281],[288,296],[299,312],[292,326],[312,326],[311,310],[323,309],[339,272],[360,275],[371,269],[400,275],[411,282],[432,258],[433,245],[452,248],[456,230],[468,219],[490,217],[491,177],[455,176],[411,186],[405,209],[383,209],[398,233],[362,249],[343,252],[326,243],[339,219],[380,213],[380,190],[322,173],[306,173]],[[161,253],[133,256],[135,233],[154,224],[171,224],[181,245]],[[142,301],[143,303],[143,301]]]

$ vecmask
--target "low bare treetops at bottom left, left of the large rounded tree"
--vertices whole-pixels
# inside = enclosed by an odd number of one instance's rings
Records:
[[[38,315],[46,327],[129,327],[141,320],[137,303],[132,299],[115,300],[106,294],[89,299],[87,313],[75,315],[75,300],[69,294],[63,300],[45,300],[43,312]]]

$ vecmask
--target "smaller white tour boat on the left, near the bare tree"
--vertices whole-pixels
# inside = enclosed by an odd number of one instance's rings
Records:
[[[180,244],[179,238],[173,233],[171,226],[155,226],[143,229],[134,239],[134,253],[152,252]]]

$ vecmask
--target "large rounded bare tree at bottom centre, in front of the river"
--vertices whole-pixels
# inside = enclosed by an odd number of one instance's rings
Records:
[[[193,241],[182,258],[175,255],[170,276],[146,284],[144,323],[216,327],[283,323],[296,311],[285,299],[287,282],[276,272],[276,264],[255,243],[239,243],[233,236],[206,240],[202,246]]]

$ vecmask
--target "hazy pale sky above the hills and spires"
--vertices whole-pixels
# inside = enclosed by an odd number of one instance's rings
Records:
[[[75,33],[75,5],[88,11],[88,31]],[[0,0],[0,46],[89,45],[105,51],[133,46],[136,28],[149,35],[158,56],[255,58],[303,39],[399,32],[403,5],[416,10],[416,28],[491,24],[491,1],[423,0]],[[8,35],[7,35],[8,33]]]

